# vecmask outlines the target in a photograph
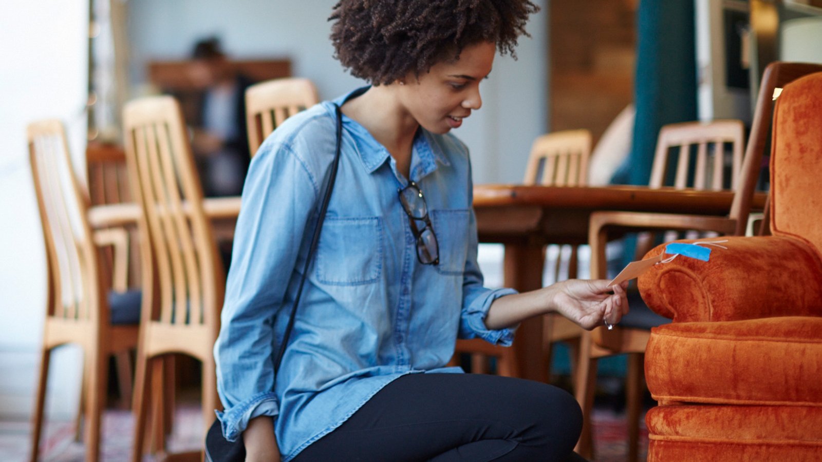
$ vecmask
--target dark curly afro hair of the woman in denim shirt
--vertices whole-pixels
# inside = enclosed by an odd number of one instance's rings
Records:
[[[331,42],[353,76],[388,85],[482,41],[516,58],[517,38],[530,37],[525,22],[538,11],[528,0],[341,0],[329,18]]]

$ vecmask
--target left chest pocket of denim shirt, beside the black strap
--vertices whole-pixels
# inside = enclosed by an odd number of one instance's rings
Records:
[[[316,278],[322,284],[372,284],[382,271],[379,217],[326,217],[316,250]]]

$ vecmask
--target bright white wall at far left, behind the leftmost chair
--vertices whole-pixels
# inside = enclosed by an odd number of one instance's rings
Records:
[[[0,0],[0,415],[30,412],[45,304],[43,234],[25,124],[61,118],[82,164],[87,1]],[[49,410],[76,409],[79,355],[53,357]]]

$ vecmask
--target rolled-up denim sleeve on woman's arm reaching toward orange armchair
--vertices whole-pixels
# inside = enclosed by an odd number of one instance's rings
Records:
[[[469,223],[469,251],[463,275],[463,301],[459,319],[459,338],[480,338],[492,344],[510,346],[514,330],[491,330],[485,325],[485,317],[494,300],[512,293],[514,289],[487,289],[483,287],[483,273],[477,263],[477,218],[471,210]]]

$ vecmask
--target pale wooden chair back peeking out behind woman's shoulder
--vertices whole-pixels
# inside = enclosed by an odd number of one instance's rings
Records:
[[[255,155],[262,141],[286,118],[320,102],[308,79],[285,77],[251,85],[246,90],[248,150]]]

